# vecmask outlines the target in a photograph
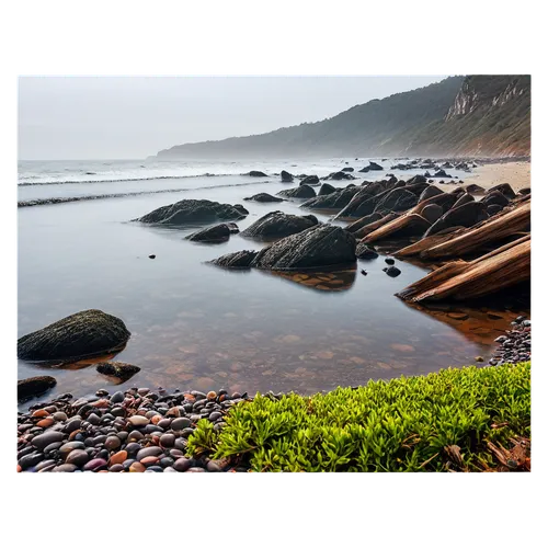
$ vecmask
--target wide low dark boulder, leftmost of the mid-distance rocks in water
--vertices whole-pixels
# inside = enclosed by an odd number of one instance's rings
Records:
[[[134,220],[151,225],[179,227],[222,220],[240,220],[248,215],[249,212],[239,204],[232,206],[210,202],[209,199],[182,199],[175,204],[159,207]]]

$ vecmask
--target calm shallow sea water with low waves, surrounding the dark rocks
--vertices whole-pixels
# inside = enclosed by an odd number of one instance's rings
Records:
[[[454,320],[443,311],[424,313],[393,296],[426,274],[426,269],[397,261],[402,273],[391,278],[381,270],[383,256],[358,261],[357,271],[338,276],[342,283],[333,287],[341,290],[319,290],[270,273],[227,272],[204,264],[231,251],[262,246],[239,235],[227,243],[207,246],[183,239],[193,229],[128,222],[183,198],[244,204],[250,215],[238,222],[240,230],[271,210],[306,214],[309,212],[298,207],[300,202],[242,202],[246,196],[275,194],[297,183],[281,183],[278,176],[253,180],[238,173],[287,169],[321,176],[341,169],[344,161],[350,160],[275,165],[151,162],[150,168],[140,168],[147,162],[136,161],[110,162],[103,171],[100,163],[106,162],[31,162],[19,167],[20,183],[46,183],[19,186],[19,201],[124,196],[18,209],[18,334],[99,308],[124,320],[132,332],[116,359],[138,365],[141,372],[122,386],[225,387],[251,393],[270,389],[311,393],[369,378],[470,364],[478,355],[488,358],[492,340],[507,329],[514,311],[502,309],[500,318],[490,319],[487,310],[475,310],[467,320]],[[367,161],[352,159],[350,164],[359,169]],[[145,172],[141,179],[128,181],[138,179],[134,175],[139,170]],[[408,179],[422,172],[400,174]],[[201,173],[219,175],[195,176]],[[378,173],[366,175],[380,179]],[[64,183],[92,178],[113,182]],[[114,182],[116,178],[125,180]],[[253,184],[244,184],[250,182]],[[181,192],[151,193],[171,189]],[[128,192],[146,194],[127,196]],[[326,215],[318,217],[329,220]],[[156,260],[148,259],[151,253]],[[362,269],[367,270],[367,276],[359,273]],[[58,385],[48,397],[65,391],[92,393],[111,383],[93,366],[49,372],[21,361],[16,364],[19,378],[41,374],[57,378]]]

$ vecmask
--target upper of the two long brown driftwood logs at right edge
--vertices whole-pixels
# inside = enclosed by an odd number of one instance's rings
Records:
[[[514,209],[484,220],[475,227],[455,235],[454,238],[437,243],[421,252],[422,259],[439,259],[444,256],[463,256],[471,253],[488,242],[502,240],[516,232],[525,231],[533,220],[532,201],[520,204]]]

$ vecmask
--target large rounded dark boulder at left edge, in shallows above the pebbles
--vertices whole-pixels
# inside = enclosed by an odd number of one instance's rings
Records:
[[[122,350],[132,333],[101,310],[83,310],[15,341],[15,357],[27,362],[70,363]]]

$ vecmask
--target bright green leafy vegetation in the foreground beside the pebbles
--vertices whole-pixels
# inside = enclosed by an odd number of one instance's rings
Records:
[[[534,375],[526,362],[312,397],[258,395],[230,410],[220,433],[199,421],[189,450],[249,464],[253,473],[494,470],[489,442],[507,446],[534,433]]]

